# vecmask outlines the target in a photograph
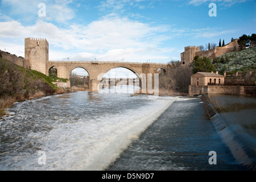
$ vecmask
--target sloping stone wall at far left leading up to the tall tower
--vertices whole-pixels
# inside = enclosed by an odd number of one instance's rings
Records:
[[[30,61],[23,59],[21,57],[17,57],[16,55],[11,55],[8,52],[0,50],[0,57],[2,57],[3,59],[7,59],[11,61],[11,63],[19,65],[20,67],[28,68],[28,69],[30,68]]]

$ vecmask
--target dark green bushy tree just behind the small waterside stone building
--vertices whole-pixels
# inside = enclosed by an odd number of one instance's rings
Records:
[[[193,73],[197,72],[211,72],[216,71],[216,68],[213,66],[212,61],[209,57],[199,57],[195,56],[192,64],[192,71]]]

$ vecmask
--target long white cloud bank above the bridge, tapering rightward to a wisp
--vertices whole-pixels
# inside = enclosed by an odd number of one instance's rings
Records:
[[[167,40],[184,36],[212,38],[235,31],[156,26],[120,18],[115,14],[87,25],[72,24],[69,28],[59,28],[42,20],[32,26],[23,26],[18,21],[0,22],[0,27],[0,38],[18,38],[23,41],[27,37],[46,38],[50,60],[67,60],[69,57],[70,60],[92,61],[96,57],[100,61],[138,62],[179,59],[170,57],[172,53],[179,55],[175,49],[160,47]]]

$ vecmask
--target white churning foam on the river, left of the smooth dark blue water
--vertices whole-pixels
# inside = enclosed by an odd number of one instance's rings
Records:
[[[18,123],[13,118],[7,118],[6,121],[1,122],[1,134],[7,137],[14,135],[15,130],[13,128],[28,125],[26,121],[30,121],[30,118],[41,117],[40,119],[42,120],[39,122],[35,120],[33,129],[22,131],[23,136],[15,135],[16,139],[14,139],[14,143],[10,143],[13,145],[13,151],[11,150],[12,147],[10,151],[5,151],[5,148],[0,146],[1,150],[4,151],[1,151],[0,169],[103,170],[118,158],[133,139],[138,138],[148,126],[179,98],[168,97],[167,99],[159,97],[158,100],[145,102],[143,106],[120,109],[121,111],[117,113],[102,113],[98,114],[97,117],[92,115],[89,117],[85,111],[84,115],[76,114],[73,117],[67,118],[52,115],[51,122],[47,118],[47,115],[44,115],[45,113],[40,113],[40,109],[43,109],[43,107],[49,107],[49,111],[60,107],[56,103],[48,106],[49,100],[52,98],[59,100],[61,104],[63,101],[70,105],[71,100],[67,100],[65,96],[69,97],[69,94],[50,96],[40,98],[39,100],[15,104],[16,110],[22,110],[24,109],[23,107],[28,107],[28,113],[18,113],[16,115],[13,113],[16,117],[15,119],[19,118],[19,121],[24,121],[24,123]],[[147,96],[127,97],[123,100],[123,104],[125,105],[126,101],[138,101],[141,99],[147,100]],[[46,103],[42,104],[43,101]],[[93,107],[97,109],[99,106],[98,102],[92,103],[95,104]],[[90,106],[92,106],[92,103],[90,102]],[[39,113],[36,113],[33,104],[38,105],[39,109],[37,109]],[[79,107],[76,107],[74,112],[77,109]],[[38,130],[37,127],[40,128],[42,127],[41,125],[43,127],[49,125],[49,129]],[[17,129],[17,131],[20,130]],[[22,128],[22,130],[24,129]],[[38,163],[39,151],[44,151],[46,154],[45,165]]]

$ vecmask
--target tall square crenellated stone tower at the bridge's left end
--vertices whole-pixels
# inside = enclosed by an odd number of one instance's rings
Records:
[[[30,68],[47,74],[46,63],[49,60],[49,43],[46,39],[26,38],[25,59],[30,61]]]

